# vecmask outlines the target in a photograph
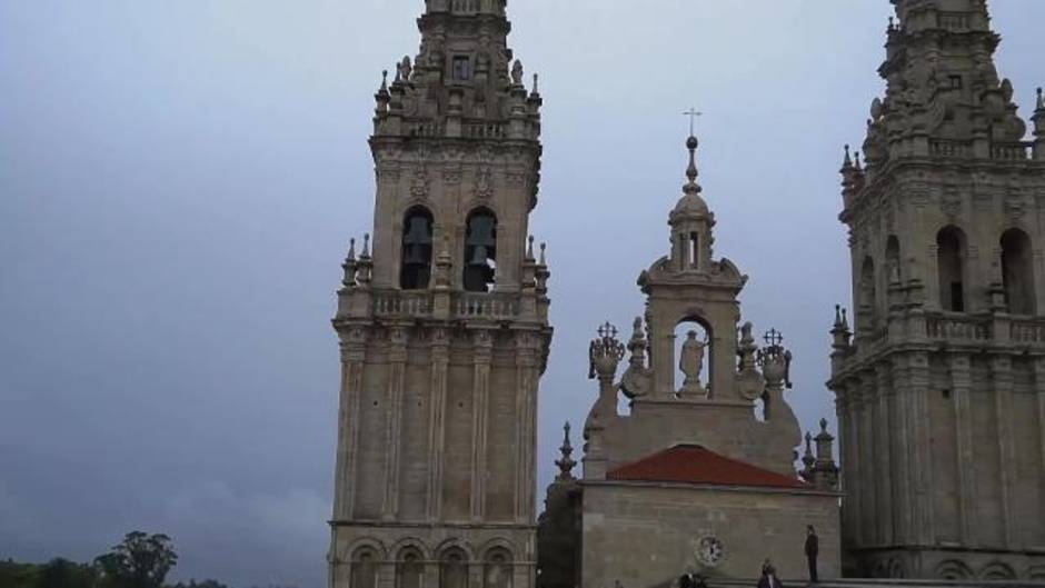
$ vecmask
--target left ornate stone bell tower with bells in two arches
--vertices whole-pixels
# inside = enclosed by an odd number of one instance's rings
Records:
[[[534,586],[541,99],[506,3],[428,0],[376,94],[372,252],[354,241],[334,319],[332,587]]]

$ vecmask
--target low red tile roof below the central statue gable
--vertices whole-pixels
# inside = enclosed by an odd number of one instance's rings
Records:
[[[720,456],[698,445],[677,445],[634,464],[621,466],[607,479],[674,484],[713,484],[759,488],[809,488],[797,477],[762,469]]]

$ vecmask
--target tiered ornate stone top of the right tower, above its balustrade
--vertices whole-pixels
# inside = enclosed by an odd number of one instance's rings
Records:
[[[898,157],[991,158],[996,143],[1018,143],[1013,84],[998,77],[984,0],[893,0],[886,93],[870,108],[864,155],[869,172]]]

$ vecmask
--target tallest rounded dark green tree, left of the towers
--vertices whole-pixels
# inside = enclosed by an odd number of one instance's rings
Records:
[[[178,562],[170,537],[133,531],[111,551],[94,559],[103,588],[161,588]]]

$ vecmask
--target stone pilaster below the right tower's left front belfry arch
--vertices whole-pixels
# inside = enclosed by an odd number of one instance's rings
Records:
[[[972,378],[969,358],[951,356],[951,390],[954,399],[954,422],[957,437],[958,528],[963,545],[976,545],[976,458],[973,441]]]

